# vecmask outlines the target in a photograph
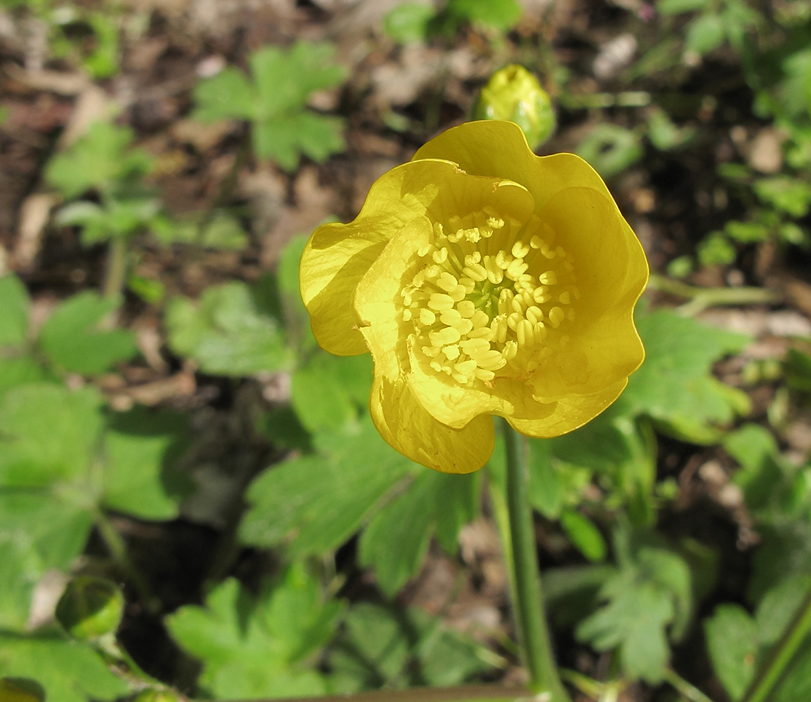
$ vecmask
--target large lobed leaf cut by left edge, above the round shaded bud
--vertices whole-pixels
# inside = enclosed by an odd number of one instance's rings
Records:
[[[33,586],[70,567],[96,510],[177,516],[183,423],[145,409],[110,422],[95,387],[36,383],[0,397],[0,426],[0,627],[19,630]]]

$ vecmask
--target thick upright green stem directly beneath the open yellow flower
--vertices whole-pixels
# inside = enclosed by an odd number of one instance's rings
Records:
[[[508,567],[513,575],[513,610],[524,665],[530,674],[530,689],[546,692],[549,702],[569,702],[569,694],[552,658],[551,641],[543,608],[538,551],[527,494],[529,473],[526,440],[503,422],[507,454],[507,512],[511,553]]]

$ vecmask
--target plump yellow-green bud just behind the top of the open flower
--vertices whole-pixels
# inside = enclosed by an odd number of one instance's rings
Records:
[[[482,88],[474,119],[508,119],[538,148],[555,131],[555,109],[547,92],[523,66],[512,64],[491,75]]]

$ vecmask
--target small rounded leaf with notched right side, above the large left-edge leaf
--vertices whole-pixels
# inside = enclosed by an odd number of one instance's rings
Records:
[[[39,345],[58,369],[98,375],[135,356],[135,335],[128,329],[107,329],[105,319],[121,301],[84,290],[62,302],[42,326]]]

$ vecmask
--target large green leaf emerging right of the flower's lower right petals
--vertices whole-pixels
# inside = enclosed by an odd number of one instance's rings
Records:
[[[616,412],[699,424],[731,422],[736,402],[710,370],[719,358],[740,351],[748,337],[705,327],[668,310],[640,317],[637,327],[646,361],[631,375]]]

